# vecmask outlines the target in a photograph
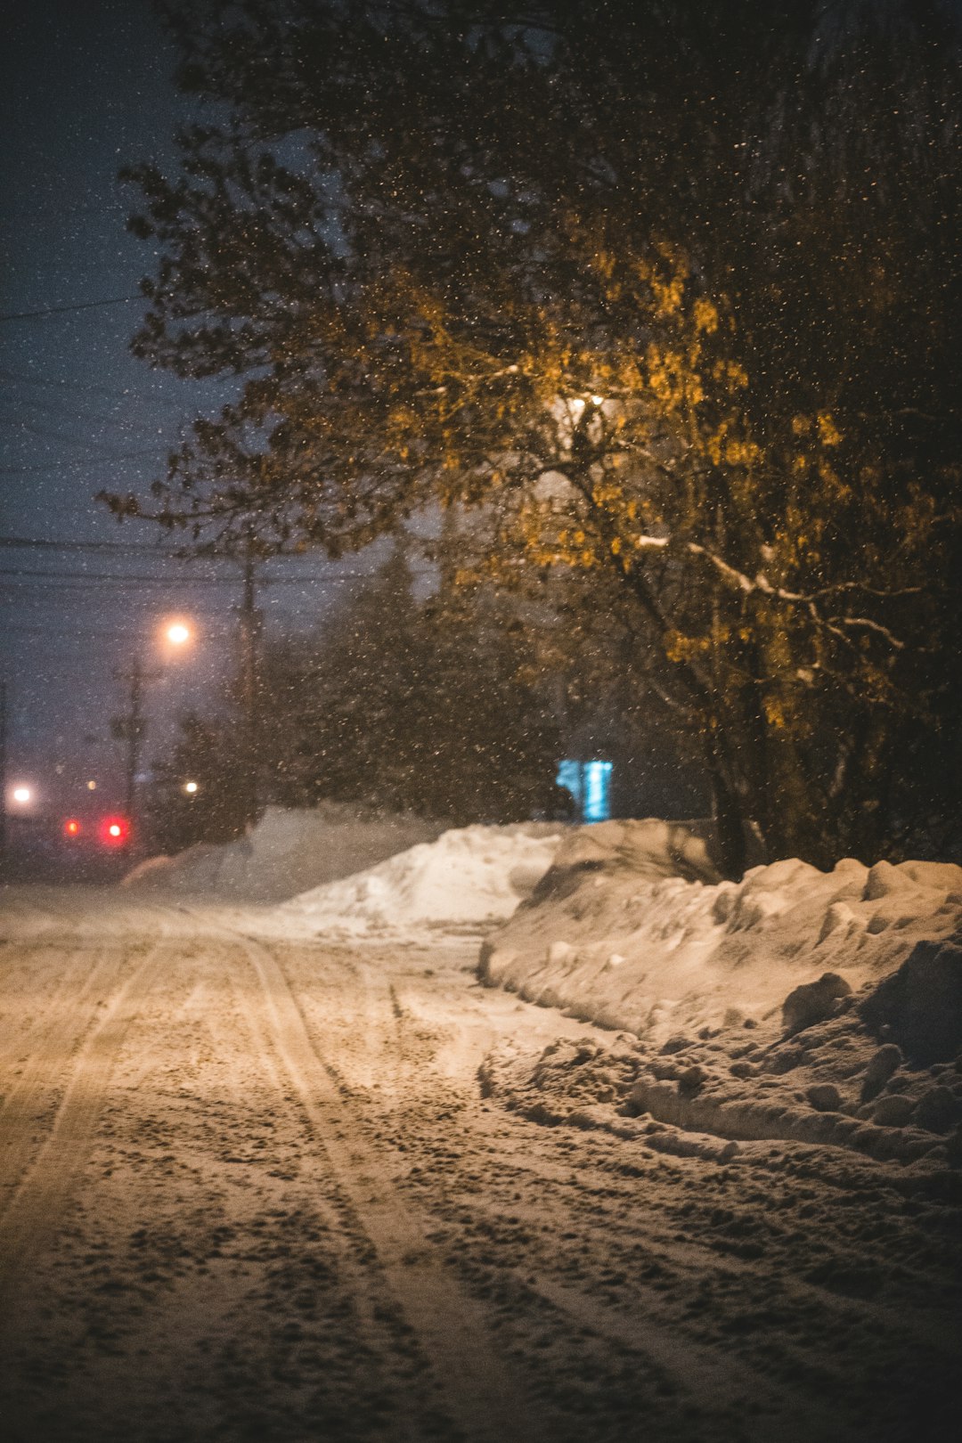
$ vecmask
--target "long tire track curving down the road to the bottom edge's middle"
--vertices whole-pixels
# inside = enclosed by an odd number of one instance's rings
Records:
[[[425,1225],[387,1176],[385,1159],[352,1126],[353,1107],[314,1051],[275,958],[239,938],[261,983],[273,1049],[327,1154],[336,1183],[374,1245],[388,1287],[431,1362],[450,1413],[477,1443],[544,1436],[541,1423],[489,1342],[482,1307],[425,1240]],[[361,1123],[361,1118],[356,1120]]]

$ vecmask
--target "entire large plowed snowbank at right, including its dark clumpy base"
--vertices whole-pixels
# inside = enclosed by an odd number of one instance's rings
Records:
[[[958,1166],[959,941],[956,866],[792,860],[733,883],[681,825],[578,828],[480,971],[622,1036],[503,1049],[486,1087],[672,1152],[780,1139]]]

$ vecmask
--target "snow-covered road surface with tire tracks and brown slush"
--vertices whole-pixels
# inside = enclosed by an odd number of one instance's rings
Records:
[[[242,926],[4,893],[7,1443],[948,1427],[950,1199],[811,1147],[708,1160],[509,1113],[486,1053],[591,1029],[482,988],[476,938]]]

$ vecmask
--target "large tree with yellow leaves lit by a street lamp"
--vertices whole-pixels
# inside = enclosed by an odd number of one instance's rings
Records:
[[[955,114],[952,46],[925,89],[854,4],[818,65],[813,4],[749,39],[681,0],[587,27],[578,4],[166,9],[182,82],[231,120],[182,137],[173,180],[133,172],[162,255],[134,346],[245,382],[115,509],[339,554],[475,508],[472,573],[597,577],[630,610],[730,873],[750,827],[819,864],[897,846],[897,766],[950,711],[959,346],[943,307],[906,351],[894,281],[949,297],[959,270],[927,195],[904,234],[893,206],[949,173],[914,152],[925,104]],[[919,113],[858,156],[880,199],[842,203],[844,75],[896,40],[886,85]]]

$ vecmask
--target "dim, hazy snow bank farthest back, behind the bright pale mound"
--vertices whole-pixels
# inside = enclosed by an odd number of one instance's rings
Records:
[[[339,802],[310,811],[268,807],[239,841],[199,844],[175,857],[149,857],[124,886],[244,902],[280,902],[371,867],[417,843],[433,841],[441,823],[420,817],[359,814]]]

